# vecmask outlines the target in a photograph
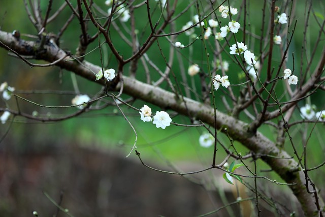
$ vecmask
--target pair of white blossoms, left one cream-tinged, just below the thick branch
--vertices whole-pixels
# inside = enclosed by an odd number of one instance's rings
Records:
[[[143,122],[150,122],[152,121],[151,118],[151,108],[147,105],[143,105],[140,109],[140,119]],[[153,116],[152,123],[156,125],[156,128],[165,129],[166,127],[170,126],[172,122],[172,118],[170,118],[169,114],[166,111],[156,111],[156,114]]]

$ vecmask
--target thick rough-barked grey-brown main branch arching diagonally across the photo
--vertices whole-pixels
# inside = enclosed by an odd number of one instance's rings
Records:
[[[36,59],[43,59],[53,62],[66,52],[58,48],[55,44],[47,44],[42,52],[36,52],[37,44],[31,41],[17,40],[10,33],[0,31],[0,41],[22,55],[34,55]],[[4,47],[0,44],[0,46]],[[7,48],[6,48],[7,49]],[[70,59],[68,56],[65,59]],[[83,61],[82,65],[77,61],[60,61],[56,66],[72,71],[90,81],[95,81],[95,73],[101,68]],[[157,105],[164,109],[171,109],[183,115],[190,115],[196,119],[202,120],[211,126],[214,126],[214,111],[210,106],[201,104],[188,98],[177,99],[175,94],[159,87],[143,83],[141,81],[122,77],[123,92],[129,96],[141,99],[145,102]],[[283,180],[287,183],[296,183],[289,185],[297,199],[300,201],[306,216],[317,215],[317,208],[314,203],[313,194],[308,194],[305,187],[305,176],[302,168],[297,167],[298,163],[290,158],[289,154],[276,147],[275,143],[270,141],[260,132],[251,135],[247,132],[247,123],[216,111],[216,126],[221,132],[228,133],[234,140],[239,141],[251,151],[270,165]],[[225,130],[226,129],[226,130]],[[268,156],[275,156],[271,158]],[[281,159],[283,158],[283,159]],[[319,205],[323,209],[324,203],[319,199]]]

